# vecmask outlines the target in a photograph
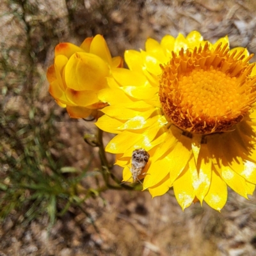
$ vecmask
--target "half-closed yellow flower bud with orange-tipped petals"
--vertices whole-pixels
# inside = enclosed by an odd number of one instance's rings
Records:
[[[97,93],[108,88],[111,68],[122,67],[121,57],[111,58],[103,36],[88,37],[80,47],[60,43],[55,47],[54,65],[47,70],[49,92],[72,118],[97,116],[106,106]]]

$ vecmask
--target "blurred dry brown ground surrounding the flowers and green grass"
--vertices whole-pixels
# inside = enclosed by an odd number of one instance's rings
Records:
[[[143,49],[149,36],[161,40],[198,30],[206,40],[228,35],[231,47],[256,52],[253,0],[2,0],[0,25],[2,159],[10,154],[18,161],[13,138],[23,136],[26,145],[33,138],[24,134],[38,127],[41,138],[47,130],[54,159],[78,170],[92,155],[90,170],[99,167],[99,159],[83,141],[93,124],[70,119],[47,91],[45,72],[59,42],[79,45],[99,33],[113,56],[123,56],[125,49]],[[2,161],[1,179],[9,167]],[[121,169],[115,172],[122,177]],[[1,222],[0,255],[253,256],[255,202],[255,196],[246,200],[230,191],[221,212],[206,204],[182,212],[172,191],[152,200],[147,191],[109,190],[86,200],[86,213],[70,207],[50,230],[47,215],[24,222],[24,212],[13,210]]]

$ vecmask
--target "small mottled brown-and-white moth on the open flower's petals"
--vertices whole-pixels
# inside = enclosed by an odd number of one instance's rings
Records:
[[[148,163],[149,157],[148,152],[144,148],[139,148],[132,152],[132,167],[130,170],[132,173],[133,183],[137,180],[140,182],[138,176]]]

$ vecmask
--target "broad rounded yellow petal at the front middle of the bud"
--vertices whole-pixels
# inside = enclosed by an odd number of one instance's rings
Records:
[[[68,60],[65,81],[70,89],[97,92],[108,86],[106,81],[108,74],[109,67],[105,61],[94,54],[79,52]]]

